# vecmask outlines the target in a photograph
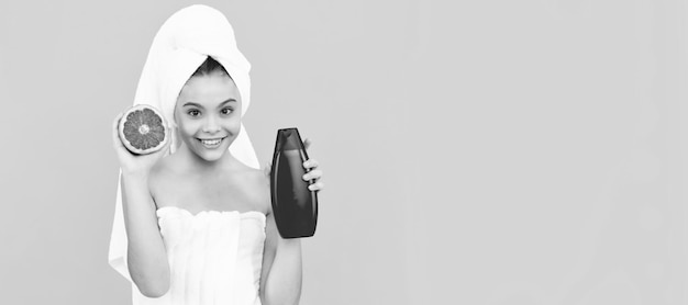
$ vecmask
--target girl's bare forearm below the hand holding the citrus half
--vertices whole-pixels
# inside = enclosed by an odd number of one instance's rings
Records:
[[[122,173],[121,183],[129,272],[143,295],[163,296],[169,290],[170,271],[147,176]]]

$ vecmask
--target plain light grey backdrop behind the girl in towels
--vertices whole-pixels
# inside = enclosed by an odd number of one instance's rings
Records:
[[[130,304],[110,127],[191,3],[0,2],[0,303]],[[324,171],[301,304],[688,304],[684,1],[203,3]]]

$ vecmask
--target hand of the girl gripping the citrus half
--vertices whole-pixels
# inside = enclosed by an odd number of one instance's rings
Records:
[[[155,152],[147,155],[135,155],[129,151],[122,140],[120,139],[120,120],[122,120],[122,115],[124,112],[120,113],[112,123],[112,145],[114,146],[114,150],[118,155],[118,159],[120,160],[120,168],[122,169],[122,173],[126,174],[143,174],[147,176],[151,171],[151,168],[157,163],[159,159],[169,155],[169,145],[171,140],[167,140],[165,146]],[[170,128],[166,128],[167,134],[166,137],[169,138],[171,131]]]

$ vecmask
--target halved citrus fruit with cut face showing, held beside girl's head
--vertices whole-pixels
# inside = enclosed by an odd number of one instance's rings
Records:
[[[134,105],[120,120],[120,139],[136,155],[160,150],[167,143],[167,124],[158,110],[151,105]]]

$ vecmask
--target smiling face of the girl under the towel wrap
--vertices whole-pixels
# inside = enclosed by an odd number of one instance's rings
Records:
[[[241,97],[221,71],[192,77],[175,105],[178,135],[189,150],[207,161],[219,160],[241,131]]]

